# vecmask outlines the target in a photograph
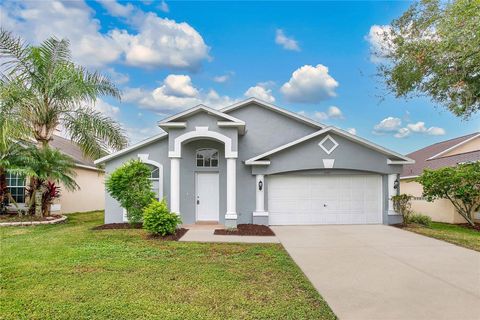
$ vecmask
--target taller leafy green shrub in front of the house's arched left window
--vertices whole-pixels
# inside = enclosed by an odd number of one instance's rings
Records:
[[[140,160],[131,160],[107,177],[107,191],[127,210],[130,223],[140,222],[143,209],[155,199],[150,174],[150,168],[146,164]]]

